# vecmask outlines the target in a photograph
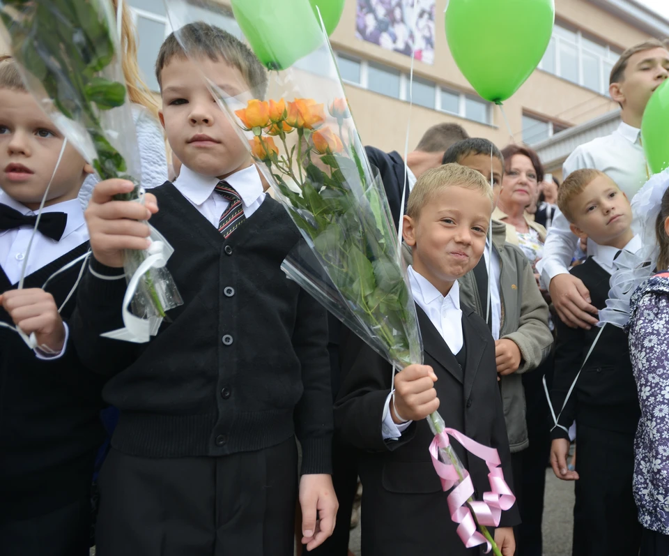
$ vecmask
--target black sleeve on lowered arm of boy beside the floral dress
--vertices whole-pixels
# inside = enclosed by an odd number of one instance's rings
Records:
[[[557,341],[555,343],[555,367],[553,370],[553,384],[551,386],[551,403],[555,417],[560,415],[558,424],[569,430],[576,417],[576,393],[572,392],[567,405],[562,409],[567,392],[571,388],[578,369],[583,363],[583,347],[585,345],[585,331],[581,328],[572,329],[559,318],[555,319]],[[552,417],[551,417],[552,419]],[[553,423],[555,426],[555,423]],[[551,439],[569,438],[566,430],[555,426],[551,431]]]

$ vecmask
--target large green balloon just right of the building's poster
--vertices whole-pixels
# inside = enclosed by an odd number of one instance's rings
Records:
[[[554,0],[450,0],[446,38],[460,71],[482,98],[507,100],[546,52]]]

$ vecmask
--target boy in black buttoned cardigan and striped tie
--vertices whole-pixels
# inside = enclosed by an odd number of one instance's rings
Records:
[[[295,434],[307,548],[332,533],[337,509],[326,314],[281,271],[300,233],[263,192],[200,73],[233,94],[245,82],[261,98],[263,67],[221,29],[179,32],[197,61],[172,34],[156,63],[178,180],[153,189],[146,206],[112,199],[132,184],[100,183],[86,211],[94,259],[72,332],[82,359],[109,376],[103,396],[120,411],[100,473],[97,543],[123,556],[291,556]],[[122,250],[148,246],[136,220],[149,217],[175,248],[167,267],[183,306],[149,343],[100,338],[122,326]]]

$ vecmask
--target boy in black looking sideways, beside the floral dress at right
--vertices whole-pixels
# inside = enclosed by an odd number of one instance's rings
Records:
[[[641,247],[640,238],[631,230],[629,201],[603,172],[577,170],[560,186],[557,202],[571,223],[571,231],[597,243],[597,255],[574,266],[571,274],[583,280],[592,304],[604,308],[617,253],[634,253]],[[561,415],[551,433],[551,465],[558,479],[576,481],[572,553],[637,554],[641,528],[632,495],[632,475],[640,409],[627,337],[616,326],[571,329],[559,319],[555,326],[551,403],[556,416]],[[583,370],[567,400],[581,366]],[[571,471],[567,468],[567,431],[574,420],[578,458],[576,470]]]

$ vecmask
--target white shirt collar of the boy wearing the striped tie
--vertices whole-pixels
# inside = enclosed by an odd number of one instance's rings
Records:
[[[242,198],[242,209],[246,218],[250,218],[263,204],[265,200],[263,183],[254,165],[239,170],[239,172],[226,177],[224,181],[236,190]],[[185,166],[181,167],[181,172],[174,182],[174,187],[214,227],[218,227],[221,215],[230,204],[229,200],[214,189],[218,182],[219,179],[216,177],[203,176]]]

